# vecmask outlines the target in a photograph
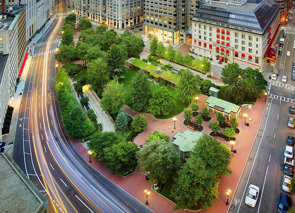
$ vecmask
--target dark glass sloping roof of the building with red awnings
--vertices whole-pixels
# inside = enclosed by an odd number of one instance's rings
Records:
[[[242,5],[208,1],[193,18],[264,31],[279,10],[280,4],[276,0],[246,2]]]

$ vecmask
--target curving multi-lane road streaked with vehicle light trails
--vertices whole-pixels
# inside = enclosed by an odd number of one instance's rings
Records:
[[[73,148],[63,130],[54,84],[55,49],[67,5],[32,49],[19,111],[13,158],[49,201],[49,212],[151,212],[118,188]]]

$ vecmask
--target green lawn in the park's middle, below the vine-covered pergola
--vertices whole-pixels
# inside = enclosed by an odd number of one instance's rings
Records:
[[[125,78],[121,78],[119,79],[120,83],[124,83],[125,85],[125,92],[127,94],[127,101],[126,101],[126,105],[128,105],[129,107],[132,107],[132,103],[131,103],[131,82],[132,79],[134,78],[134,76],[136,75],[138,71],[136,71],[135,69],[128,69],[126,68],[126,74],[125,74]],[[157,91],[160,87],[158,85],[156,85],[155,83],[153,83],[152,81],[149,82],[151,84],[151,90],[152,92]],[[167,119],[167,118],[172,118],[176,115],[178,115],[179,113],[181,113],[183,111],[184,108],[187,108],[188,104],[187,103],[182,103],[181,101],[177,100],[175,98],[175,89],[170,87],[170,86],[166,86],[168,92],[174,97],[174,103],[175,106],[173,107],[172,111],[168,114],[168,115],[155,115],[156,118],[158,119]]]

